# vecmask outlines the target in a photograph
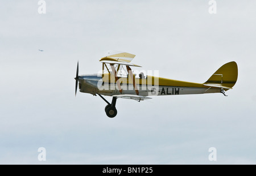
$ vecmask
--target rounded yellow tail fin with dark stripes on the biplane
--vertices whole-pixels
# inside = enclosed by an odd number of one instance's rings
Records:
[[[218,85],[220,87],[225,87],[228,90],[232,88],[237,82],[238,69],[236,62],[229,62],[218,68],[216,72],[204,83],[208,85]]]

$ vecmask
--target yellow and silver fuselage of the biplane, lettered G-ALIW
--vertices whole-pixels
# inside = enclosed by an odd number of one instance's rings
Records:
[[[92,95],[101,94],[105,96],[113,95],[137,95],[140,96],[163,96],[163,95],[189,95],[201,93],[220,93],[221,88],[209,88],[204,84],[191,83],[187,81],[158,78],[146,76],[145,78],[130,78],[130,76],[118,77],[113,74],[88,74],[79,76],[80,92]],[[135,85],[136,86],[135,86]]]

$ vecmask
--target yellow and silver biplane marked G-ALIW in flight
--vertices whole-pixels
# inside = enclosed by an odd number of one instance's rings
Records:
[[[131,67],[141,67],[131,63],[134,54],[121,51],[108,51],[100,59],[102,71],[98,74],[79,75],[79,62],[76,70],[76,87],[83,93],[100,96],[106,102],[105,112],[108,117],[117,115],[115,104],[117,98],[143,101],[151,96],[190,95],[202,93],[222,93],[232,89],[236,84],[238,68],[236,62],[229,62],[218,68],[205,83],[159,78],[145,75],[144,72],[135,74]],[[111,96],[112,102],[103,96]]]

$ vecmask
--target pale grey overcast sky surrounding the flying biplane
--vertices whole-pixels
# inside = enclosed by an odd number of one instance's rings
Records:
[[[36,0],[0,2],[0,164],[256,164],[255,1],[216,0],[216,14],[208,0],[46,0],[46,14]],[[196,83],[236,61],[238,80],[228,97],[118,99],[108,118],[74,80],[78,60],[97,73],[107,50]]]

